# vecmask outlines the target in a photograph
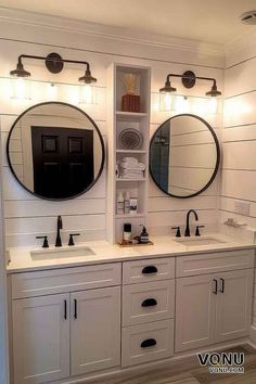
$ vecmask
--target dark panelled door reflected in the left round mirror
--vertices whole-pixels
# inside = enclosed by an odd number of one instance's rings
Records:
[[[36,194],[66,199],[93,181],[92,130],[33,126],[31,143]]]

